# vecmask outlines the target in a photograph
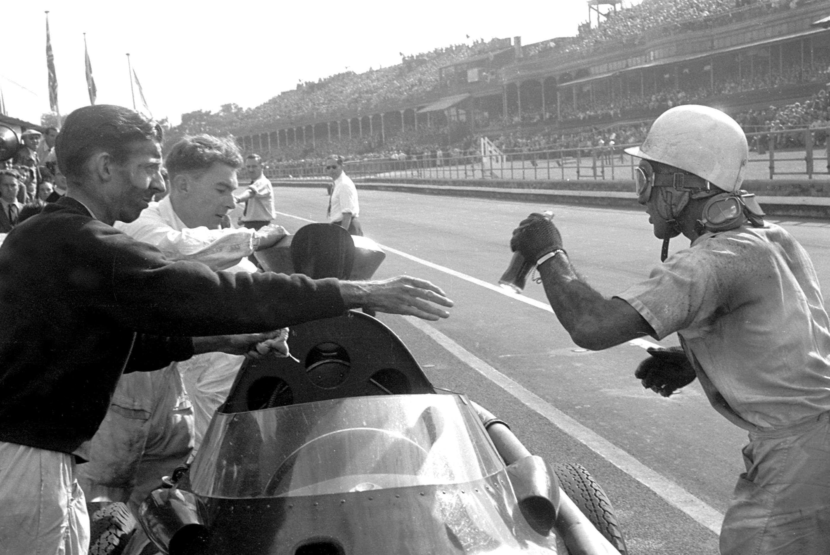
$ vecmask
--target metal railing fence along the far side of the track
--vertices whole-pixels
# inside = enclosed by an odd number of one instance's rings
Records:
[[[747,179],[805,176],[830,178],[830,128],[787,129],[747,134],[750,144]],[[509,181],[632,180],[637,158],[613,147],[559,148],[482,156],[447,154],[406,160],[377,158],[347,162],[352,178],[501,179]],[[271,179],[328,178],[317,164],[269,168]]]

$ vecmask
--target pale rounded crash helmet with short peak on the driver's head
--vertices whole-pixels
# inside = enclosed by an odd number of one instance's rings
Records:
[[[625,151],[694,173],[725,192],[744,181],[749,145],[735,119],[709,106],[681,105],[654,120],[646,140]]]

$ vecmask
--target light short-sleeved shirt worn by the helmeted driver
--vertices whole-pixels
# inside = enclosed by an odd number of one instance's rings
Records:
[[[813,263],[774,224],[698,237],[621,299],[680,335],[715,410],[749,431],[830,411],[830,319]]]

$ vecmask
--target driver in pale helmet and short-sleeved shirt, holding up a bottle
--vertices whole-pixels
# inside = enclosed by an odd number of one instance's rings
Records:
[[[576,273],[549,217],[522,221],[510,248],[536,262],[574,343],[676,332],[681,347],[649,349],[635,376],[665,397],[697,377],[715,410],[749,431],[720,553],[830,553],[830,320],[807,252],[740,189],[748,151],[734,119],[697,105],[667,110],[627,149],[641,159],[638,200],[663,251],[619,295]],[[681,234],[691,246],[667,256]]]

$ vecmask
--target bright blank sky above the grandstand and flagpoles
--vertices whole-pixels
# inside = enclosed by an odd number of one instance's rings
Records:
[[[97,103],[132,105],[129,52],[154,116],[173,124],[193,110],[260,105],[298,80],[347,67],[362,73],[393,66],[398,52],[431,51],[468,41],[466,35],[520,36],[526,45],[573,36],[588,20],[586,0],[5,2],[0,88],[7,113],[35,123],[49,111],[45,10],[61,114],[89,104],[86,33]]]

